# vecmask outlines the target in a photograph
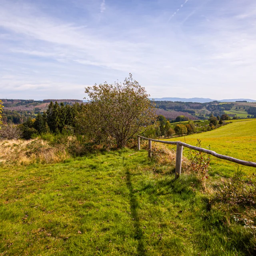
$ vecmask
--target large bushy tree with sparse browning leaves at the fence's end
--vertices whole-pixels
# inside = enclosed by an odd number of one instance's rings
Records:
[[[156,120],[145,88],[130,74],[123,83],[87,87],[88,103],[80,115],[80,127],[92,140],[124,147],[128,140]]]

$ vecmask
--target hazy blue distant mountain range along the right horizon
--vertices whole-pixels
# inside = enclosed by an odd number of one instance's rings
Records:
[[[150,98],[152,100],[152,98]],[[154,98],[156,101],[182,101],[182,102],[199,102],[199,103],[205,103],[205,102],[212,102],[215,100],[212,100],[210,98]],[[248,102],[256,102],[256,100],[251,99],[224,99],[224,100],[217,100],[219,102],[236,102],[236,101],[242,101],[246,100]]]

